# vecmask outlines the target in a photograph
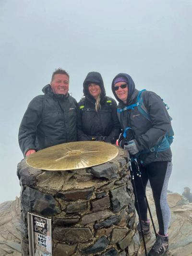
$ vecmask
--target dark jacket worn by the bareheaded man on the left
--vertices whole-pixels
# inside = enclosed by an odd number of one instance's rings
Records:
[[[50,85],[29,103],[19,128],[19,146],[25,156],[36,151],[77,140],[77,101],[67,95],[54,94]]]

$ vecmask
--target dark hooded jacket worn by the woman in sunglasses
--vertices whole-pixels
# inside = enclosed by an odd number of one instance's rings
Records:
[[[114,80],[118,76],[123,76],[127,79],[129,94],[126,103],[117,97],[114,90]],[[125,73],[120,73],[115,78],[113,79],[111,89],[114,96],[119,101],[118,107],[123,108],[136,103],[136,98],[139,91],[135,89],[131,76]],[[122,111],[119,114],[122,129],[119,139],[120,146],[124,147],[124,143],[126,141],[135,139],[140,152],[143,150],[148,151],[150,148],[161,142],[162,138],[165,136],[171,126],[170,117],[165,104],[162,102],[161,98],[156,95],[156,93],[144,91],[142,93],[142,98],[144,106],[150,116],[150,120],[146,119],[137,109],[137,107],[135,107],[133,110]],[[132,128],[133,133],[130,133],[129,131],[131,130],[128,130],[127,138],[125,139],[122,134],[127,127]],[[156,161],[171,161],[172,154],[169,147],[167,150],[162,152],[140,154],[138,158],[141,162],[143,162],[144,165],[146,165]]]

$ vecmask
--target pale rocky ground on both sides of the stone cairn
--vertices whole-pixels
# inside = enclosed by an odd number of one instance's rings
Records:
[[[147,197],[153,216],[155,207],[151,190],[147,189]],[[171,223],[169,228],[168,256],[192,255],[192,203],[177,193],[168,194],[171,209]],[[154,218],[156,225],[156,218]],[[156,225],[157,226],[157,225]],[[152,232],[148,235],[147,248],[155,240]],[[142,252],[142,255],[144,252]],[[0,256],[21,256],[20,248],[20,200],[0,204]]]

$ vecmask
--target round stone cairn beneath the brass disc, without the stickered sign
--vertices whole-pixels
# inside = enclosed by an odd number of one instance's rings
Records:
[[[72,171],[43,171],[18,164],[21,247],[29,255],[27,212],[52,219],[53,256],[134,256],[134,195],[120,149],[113,160]]]

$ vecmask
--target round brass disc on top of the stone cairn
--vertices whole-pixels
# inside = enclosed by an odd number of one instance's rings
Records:
[[[116,146],[105,142],[78,141],[39,150],[28,156],[26,163],[41,170],[67,171],[108,162],[115,158],[118,152]]]

